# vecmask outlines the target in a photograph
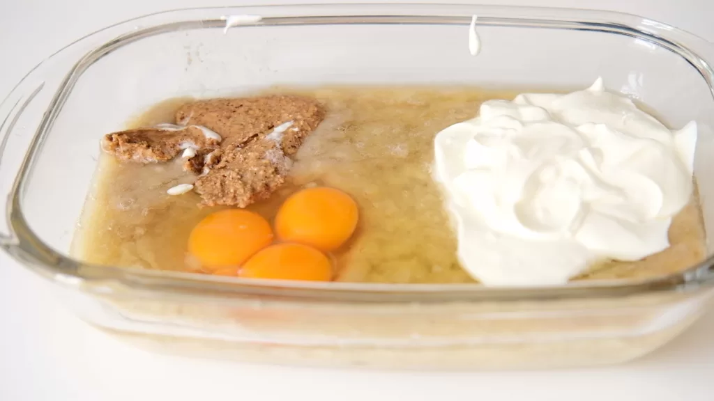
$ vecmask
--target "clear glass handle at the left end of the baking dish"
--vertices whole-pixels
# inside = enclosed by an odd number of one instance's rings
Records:
[[[30,71],[0,103],[0,246],[5,249],[16,240],[9,220],[16,175],[43,114],[35,107],[44,88],[44,80],[36,77],[41,69]]]

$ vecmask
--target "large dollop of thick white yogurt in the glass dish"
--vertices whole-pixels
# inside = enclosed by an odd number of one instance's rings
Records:
[[[484,102],[434,143],[463,268],[485,285],[560,285],[595,261],[668,248],[696,140],[693,121],[670,131],[600,78]]]

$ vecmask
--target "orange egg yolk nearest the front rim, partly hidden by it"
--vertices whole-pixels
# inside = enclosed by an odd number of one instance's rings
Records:
[[[297,243],[281,243],[259,251],[238,270],[244,278],[329,281],[332,266],[324,253]]]

